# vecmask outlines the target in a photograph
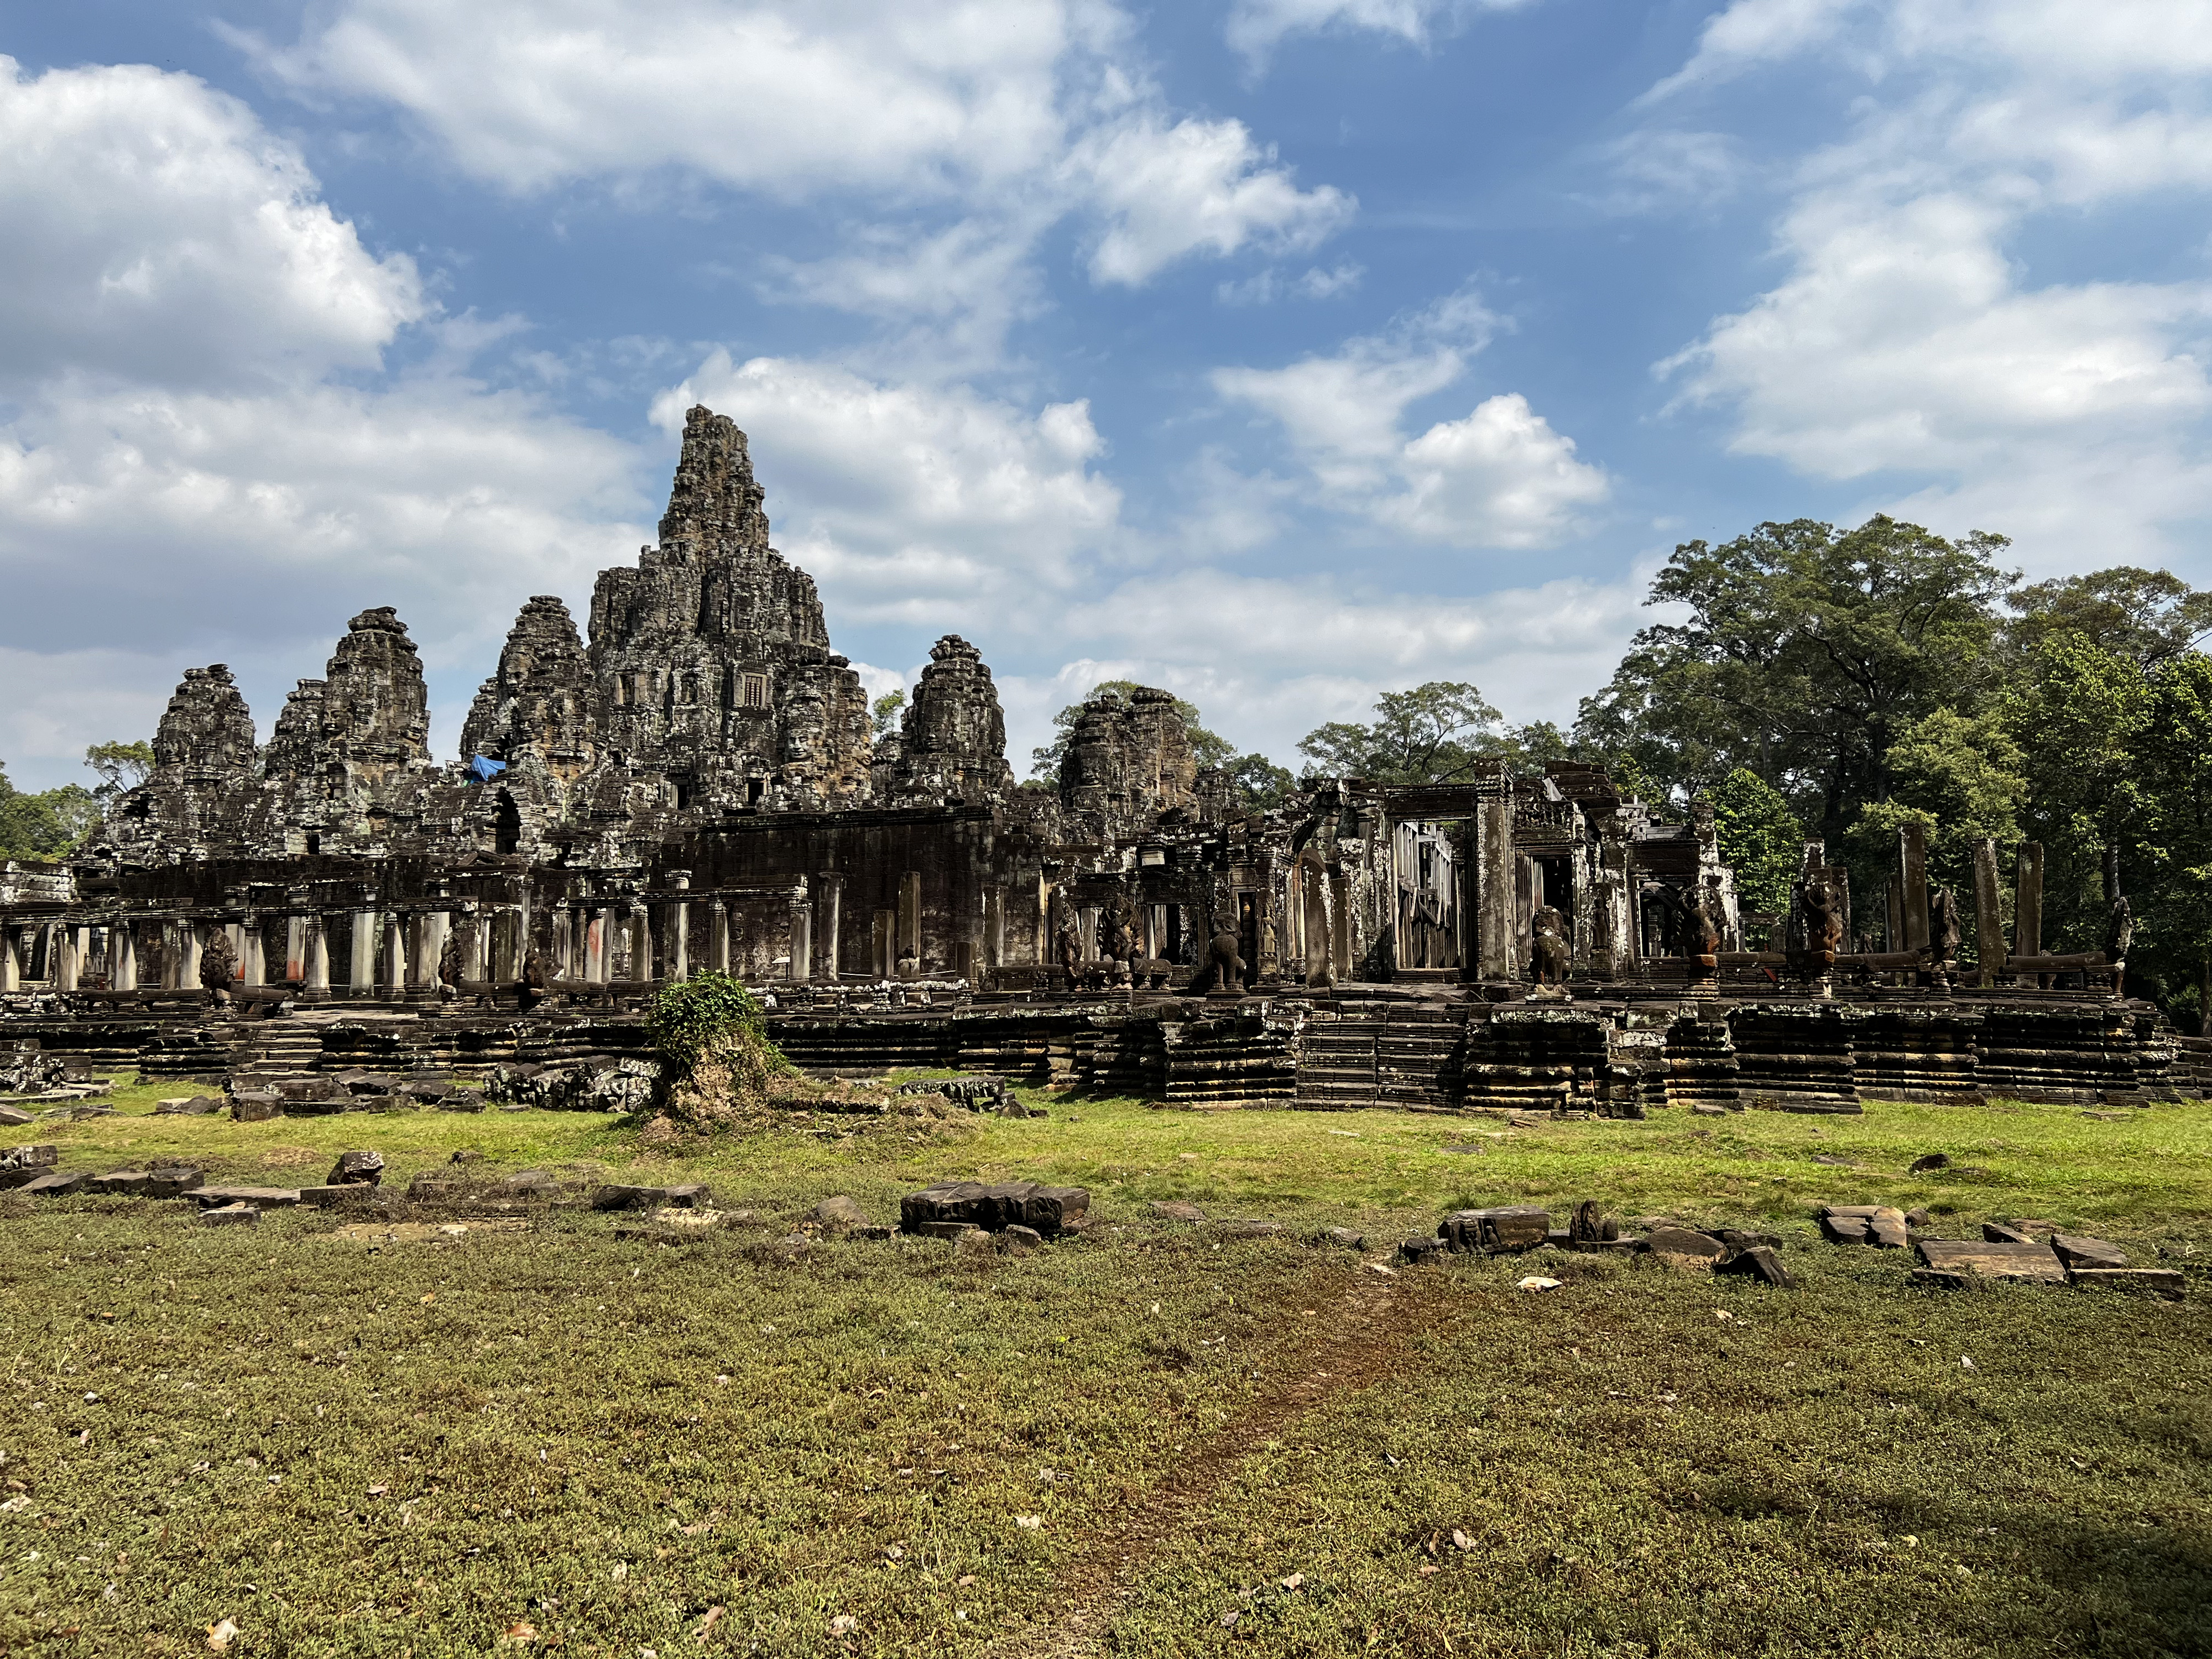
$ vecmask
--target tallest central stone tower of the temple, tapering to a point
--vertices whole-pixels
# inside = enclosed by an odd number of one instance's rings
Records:
[[[830,653],[814,580],[768,544],[761,500],[745,434],[695,407],[659,546],[591,595],[602,750],[668,776],[684,807],[856,805],[867,692]]]

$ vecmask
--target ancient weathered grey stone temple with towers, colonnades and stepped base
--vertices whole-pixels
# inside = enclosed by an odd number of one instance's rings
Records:
[[[708,409],[584,633],[524,599],[460,754],[427,739],[389,608],[347,624],[268,745],[226,666],[186,668],[91,845],[0,867],[0,1042],[234,1084],[270,1073],[263,1029],[312,1033],[281,1044],[305,1073],[606,1055],[644,1042],[657,984],[712,969],[774,998],[807,1066],[1208,1104],[2139,1099],[2203,1062],[2119,995],[2132,927],[2044,953],[2033,847],[2011,949],[1978,854],[1966,962],[1918,827],[1869,949],[1818,845],[1790,918],[1743,916],[1710,810],[1663,821],[1577,761],[1307,779],[1250,812],[1139,688],[1086,701],[1055,785],[1018,787],[958,635],[878,739],[745,436]]]

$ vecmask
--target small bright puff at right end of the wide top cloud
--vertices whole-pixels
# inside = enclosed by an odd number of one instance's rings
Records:
[[[1354,210],[1332,186],[1298,190],[1243,122],[1139,115],[1077,144],[1071,168],[1106,217],[1091,276],[1128,288],[1194,252],[1314,248]]]

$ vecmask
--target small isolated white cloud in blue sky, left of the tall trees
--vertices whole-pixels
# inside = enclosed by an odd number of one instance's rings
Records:
[[[1498,316],[1455,294],[1387,334],[1281,369],[1214,369],[1214,389],[1281,422],[1318,495],[1422,542],[1544,546],[1610,493],[1604,471],[1520,394],[1405,434],[1407,409],[1458,383]]]

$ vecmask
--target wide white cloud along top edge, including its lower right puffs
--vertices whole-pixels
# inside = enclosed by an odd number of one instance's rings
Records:
[[[783,268],[792,292],[920,319],[973,358],[1033,299],[1022,268],[1055,221],[1084,221],[1093,281],[1141,285],[1312,248],[1354,210],[1241,122],[1170,111],[1128,33],[1108,0],[341,0],[290,46],[248,44],[303,95],[405,111],[513,192],[675,170],[847,195],[854,246]]]

